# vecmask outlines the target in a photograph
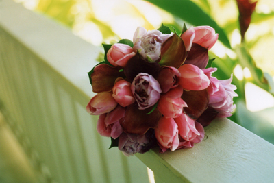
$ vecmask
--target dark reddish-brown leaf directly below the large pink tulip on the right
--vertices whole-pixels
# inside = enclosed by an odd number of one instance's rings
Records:
[[[182,99],[188,105],[188,107],[184,108],[184,112],[192,119],[198,119],[206,108],[208,108],[209,96],[206,89],[199,91],[184,90]]]

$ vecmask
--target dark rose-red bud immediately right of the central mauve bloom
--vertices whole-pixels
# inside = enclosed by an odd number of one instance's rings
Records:
[[[166,93],[171,88],[175,88],[178,86],[179,77],[181,76],[181,73],[179,73],[178,69],[176,69],[173,66],[164,66],[157,78],[157,81],[159,82],[162,93]]]

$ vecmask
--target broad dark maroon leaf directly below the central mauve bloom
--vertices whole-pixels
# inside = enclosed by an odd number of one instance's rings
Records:
[[[149,128],[155,128],[162,114],[157,110],[153,110],[150,114],[151,108],[145,110],[138,110],[138,104],[134,103],[127,106],[125,111],[125,118],[120,120],[125,133],[131,134],[145,134]]]

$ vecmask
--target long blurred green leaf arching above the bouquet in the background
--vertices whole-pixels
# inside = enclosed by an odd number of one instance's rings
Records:
[[[230,42],[227,38],[227,35],[219,25],[208,15],[206,12],[203,12],[198,5],[188,0],[146,0],[149,1],[158,7],[170,12],[171,14],[179,17],[183,21],[186,21],[192,25],[209,25],[213,27],[216,33],[219,34],[219,40],[223,44],[231,48]]]

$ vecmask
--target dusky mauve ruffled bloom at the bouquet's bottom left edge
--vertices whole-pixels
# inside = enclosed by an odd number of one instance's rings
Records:
[[[118,149],[125,156],[132,156],[136,153],[143,153],[143,148],[149,143],[149,138],[145,134],[126,134],[119,136]]]

